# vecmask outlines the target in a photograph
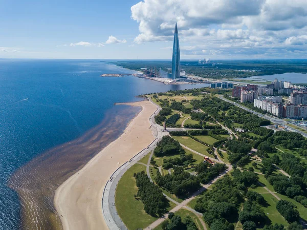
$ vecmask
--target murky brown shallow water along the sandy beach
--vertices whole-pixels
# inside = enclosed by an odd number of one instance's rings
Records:
[[[18,169],[11,176],[9,186],[19,196],[22,229],[62,229],[53,206],[57,187],[119,137],[140,111],[139,107],[115,106],[97,127],[42,153]]]

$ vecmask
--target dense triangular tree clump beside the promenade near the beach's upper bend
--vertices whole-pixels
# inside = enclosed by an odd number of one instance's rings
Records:
[[[185,154],[180,143],[170,136],[164,136],[162,140],[158,142],[153,153],[157,157]]]

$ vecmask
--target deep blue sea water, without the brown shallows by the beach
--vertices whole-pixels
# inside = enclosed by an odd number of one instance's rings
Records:
[[[115,108],[114,103],[137,101],[135,96],[145,93],[208,86],[164,85],[134,76],[100,77],[103,73],[135,71],[100,60],[0,59],[0,229],[21,226],[22,202],[8,186],[12,174],[18,172],[23,180],[25,165],[33,165],[34,171],[39,168],[40,161],[31,161],[48,151],[50,158],[57,153],[56,147],[92,130],[86,136],[90,139],[102,121],[100,131],[107,127],[108,119],[122,116],[121,127],[106,141],[116,138],[138,111]]]

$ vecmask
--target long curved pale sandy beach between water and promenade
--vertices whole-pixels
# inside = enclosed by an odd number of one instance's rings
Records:
[[[155,139],[149,129],[149,117],[157,107],[149,101],[127,104],[142,107],[142,111],[118,139],[107,145],[56,190],[54,204],[64,230],[108,229],[101,205],[107,180],[120,165]]]

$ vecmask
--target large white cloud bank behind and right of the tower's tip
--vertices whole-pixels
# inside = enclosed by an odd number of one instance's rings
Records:
[[[307,57],[305,0],[144,0],[131,7],[131,18],[138,44],[172,41],[177,22],[180,43],[193,47],[183,55]]]

